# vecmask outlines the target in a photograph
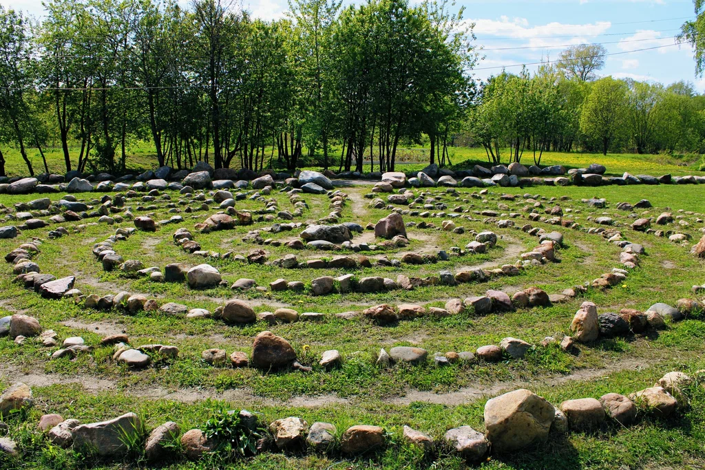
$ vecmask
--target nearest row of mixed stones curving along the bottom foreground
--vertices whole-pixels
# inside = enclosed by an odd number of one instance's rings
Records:
[[[699,374],[701,373],[698,372]],[[403,442],[418,446],[433,454],[441,447],[460,455],[467,462],[482,462],[490,452],[503,454],[517,452],[545,443],[549,436],[593,431],[611,419],[620,426],[637,422],[639,410],[657,419],[665,419],[689,406],[687,391],[692,379],[685,373],[666,373],[650,388],[633,392],[628,397],[618,393],[565,400],[558,407],[530,390],[520,389],[488,400],[484,406],[484,433],[470,426],[452,428],[443,434],[437,445],[427,433],[409,426],[403,428]],[[32,390],[24,383],[16,383],[0,396],[0,413],[31,407]],[[259,416],[247,410],[228,412],[237,414],[240,432],[246,438],[257,436],[256,452],[266,450],[298,450],[309,447],[314,452],[336,452],[357,456],[393,445],[388,432],[380,426],[355,425],[347,428],[338,440],[336,426],[316,422],[309,427],[305,419],[289,416],[277,419],[269,426],[259,423]],[[173,457],[173,442],[179,440],[185,457],[198,460],[219,449],[219,437],[193,428],[180,434],[180,426],[168,421],[155,428],[147,438],[144,423],[134,413],[123,414],[109,421],[80,424],[75,419],[64,420],[58,414],[42,416],[39,430],[47,439],[61,447],[78,452],[97,452],[102,457],[123,457],[128,442],[144,440],[145,457],[154,462]],[[264,434],[264,436],[262,436]],[[0,450],[18,456],[17,445],[8,438],[0,440]]]

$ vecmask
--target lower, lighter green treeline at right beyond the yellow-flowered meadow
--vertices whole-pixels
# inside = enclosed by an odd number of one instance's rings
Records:
[[[562,62],[491,77],[468,108],[467,137],[492,163],[525,151],[537,164],[544,151],[705,151],[705,97],[692,85],[588,78]]]

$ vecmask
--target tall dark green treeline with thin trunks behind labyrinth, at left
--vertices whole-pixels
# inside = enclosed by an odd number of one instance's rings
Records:
[[[1,174],[3,144],[32,174],[27,147],[49,144],[66,171],[115,172],[137,140],[159,166],[261,170],[276,149],[290,170],[304,151],[392,170],[400,140],[444,151],[471,96],[472,31],[446,0],[292,0],[269,22],[222,0],[44,6],[37,24],[0,6]]]

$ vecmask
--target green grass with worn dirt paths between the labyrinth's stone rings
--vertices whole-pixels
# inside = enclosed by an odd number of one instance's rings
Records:
[[[596,160],[599,161],[599,160]],[[638,173],[633,171],[632,173]],[[654,173],[654,172],[651,172]],[[352,196],[343,210],[344,221],[355,221],[363,226],[374,223],[388,214],[386,210],[372,209],[369,199],[362,196],[369,186],[343,188]],[[414,190],[416,194],[422,191]],[[87,225],[78,229],[79,223],[63,224],[70,235],[57,240],[47,239],[49,228],[27,230],[16,240],[0,240],[0,252],[11,251],[21,242],[32,237],[44,240],[41,252],[35,260],[44,272],[59,276],[77,276],[76,287],[86,294],[104,295],[118,291],[140,292],[158,299],[159,303],[180,302],[189,307],[203,307],[213,311],[226,299],[239,297],[252,302],[255,311],[274,311],[279,306],[290,306],[300,312],[318,311],[326,314],[321,322],[278,323],[274,326],[258,322],[248,326],[228,326],[215,319],[188,320],[179,316],[168,316],[159,312],[140,312],[128,315],[118,310],[96,311],[85,309],[70,300],[51,301],[41,299],[34,292],[12,283],[11,266],[4,264],[0,275],[0,316],[23,312],[36,316],[44,328],[56,330],[59,338],[80,335],[87,345],[94,346],[90,354],[82,354],[75,360],[60,359],[49,361],[48,354],[56,348],[48,349],[33,340],[24,345],[16,345],[9,338],[0,338],[0,390],[9,385],[9,378],[21,380],[23,374],[45,377],[44,383],[33,388],[37,406],[26,416],[12,416],[9,419],[10,436],[18,442],[22,457],[19,460],[0,457],[5,469],[73,469],[73,468],[145,468],[149,464],[138,458],[125,462],[104,462],[94,466],[77,454],[68,450],[47,445],[47,441],[36,431],[39,416],[47,412],[58,412],[65,418],[76,418],[82,422],[108,419],[123,412],[133,411],[145,416],[147,428],[160,423],[177,421],[182,431],[202,427],[214,413],[223,407],[238,409],[245,407],[262,413],[262,421],[269,423],[285,416],[300,416],[309,423],[329,421],[338,427],[338,433],[357,423],[378,424],[391,433],[394,445],[372,456],[348,459],[338,454],[320,456],[315,454],[266,453],[253,458],[240,459],[227,464],[228,468],[238,469],[455,469],[463,468],[460,459],[448,452],[429,458],[422,457],[417,450],[402,444],[401,429],[412,426],[432,435],[436,440],[453,426],[470,425],[483,429],[482,410],[484,399],[467,400],[453,398],[454,392],[475,390],[511,390],[528,387],[544,395],[554,404],[577,397],[599,397],[606,392],[628,393],[651,386],[668,371],[682,370],[694,373],[705,369],[702,359],[702,345],[705,340],[705,323],[701,317],[694,317],[673,323],[658,334],[636,335],[618,340],[601,340],[593,345],[582,345],[580,354],[572,355],[557,346],[541,347],[541,340],[547,335],[560,338],[568,334],[570,321],[584,300],[595,302],[599,312],[618,311],[621,308],[646,309],[655,302],[675,304],[677,299],[692,297],[690,287],[705,282],[701,275],[703,261],[689,254],[689,247],[669,242],[667,238],[651,234],[637,233],[629,227],[633,218],[624,211],[618,211],[618,202],[634,204],[648,198],[653,209],[637,211],[658,216],[670,208],[674,216],[682,216],[676,223],[666,227],[691,235],[693,242],[701,235],[703,223],[698,221],[705,213],[705,187],[689,186],[627,186],[627,187],[530,187],[525,189],[491,189],[484,199],[470,197],[472,190],[459,189],[458,194],[449,194],[443,189],[425,190],[448,206],[467,209],[464,215],[474,221],[455,219],[462,225],[465,234],[436,230],[434,228],[408,228],[410,246],[386,248],[379,252],[365,253],[367,256],[386,254],[390,258],[400,257],[409,251],[436,252],[450,247],[465,247],[473,240],[470,230],[477,232],[492,230],[500,235],[495,249],[482,256],[452,256],[450,261],[412,266],[402,264],[399,268],[381,267],[343,269],[281,269],[274,266],[243,264],[225,259],[202,259],[186,254],[173,245],[171,235],[179,227],[193,230],[195,223],[203,221],[214,213],[216,206],[211,204],[208,211],[197,210],[191,214],[181,212],[184,223],[165,225],[156,233],[138,232],[128,240],[116,242],[116,251],[124,259],[140,259],[145,266],[159,266],[170,262],[183,262],[195,266],[209,262],[219,268],[228,284],[238,278],[252,278],[258,285],[268,285],[272,280],[301,280],[307,285],[319,276],[338,276],[354,273],[364,276],[384,276],[395,279],[398,274],[407,276],[437,276],[441,269],[458,271],[463,266],[479,264],[504,264],[514,262],[518,253],[525,252],[538,244],[537,237],[518,230],[527,221],[513,219],[516,228],[497,228],[484,223],[485,217],[477,212],[491,209],[500,213],[527,214],[527,205],[521,198],[515,202],[498,199],[503,192],[513,194],[538,194],[543,209],[555,204],[563,207],[565,218],[577,221],[583,227],[596,226],[589,217],[607,214],[618,223],[613,229],[621,230],[628,240],[639,242],[646,247],[646,255],[641,258],[641,266],[630,273],[623,285],[611,290],[589,290],[587,295],[565,304],[549,308],[519,309],[505,314],[475,316],[472,313],[458,314],[439,319],[423,317],[410,321],[400,321],[380,326],[362,317],[345,320],[333,314],[345,311],[362,311],[373,304],[421,303],[443,307],[446,300],[454,297],[465,298],[479,295],[489,288],[501,288],[513,292],[531,285],[543,288],[549,293],[560,293],[566,287],[582,284],[597,278],[601,273],[618,266],[620,250],[608,243],[604,237],[588,234],[584,230],[570,230],[547,223],[531,222],[535,227],[547,231],[558,230],[564,234],[565,247],[558,251],[560,262],[527,268],[520,275],[494,278],[485,284],[462,284],[455,287],[430,286],[412,291],[363,295],[349,293],[316,297],[310,292],[233,292],[227,287],[209,290],[192,290],[185,283],[152,283],[144,278],[128,278],[114,271],[102,271],[101,264],[91,252],[92,244],[113,234],[118,226],[131,226],[129,222],[116,225]],[[168,192],[171,202],[178,209],[200,202],[189,202],[175,192]],[[560,197],[568,195],[569,200]],[[608,208],[591,209],[581,199],[593,196],[605,197]],[[18,202],[35,199],[36,195],[4,195],[0,203],[13,207]],[[52,194],[52,200],[61,194]],[[80,198],[92,202],[99,194],[82,194]],[[315,221],[329,213],[329,203],[324,196],[305,194],[309,204],[301,218],[295,221]],[[278,202],[279,210],[290,210],[292,206],[285,195],[273,192],[268,198]],[[186,204],[179,204],[179,199]],[[168,202],[168,201],[167,201]],[[130,206],[136,215],[151,214],[155,220],[167,218],[167,207],[157,203],[157,209],[140,210],[147,206],[141,199],[130,199]],[[498,204],[506,204],[509,210],[498,210]],[[257,211],[264,204],[245,199],[238,201],[238,209]],[[568,212],[570,209],[570,212]],[[447,212],[446,211],[446,212]],[[683,211],[683,212],[678,212]],[[686,214],[685,211],[692,211]],[[500,218],[505,218],[500,217]],[[90,219],[96,221],[97,219]],[[440,226],[444,218],[420,218],[405,214],[404,220],[427,221]],[[678,221],[689,225],[679,225]],[[276,221],[276,220],[275,220]],[[272,221],[257,222],[250,227],[235,230],[202,234],[193,230],[195,240],[202,249],[214,252],[233,251],[247,254],[254,249],[264,249],[269,259],[276,259],[291,252],[285,247],[253,245],[243,242],[242,237],[249,230],[269,227]],[[76,229],[76,231],[73,231]],[[267,234],[264,238],[286,241],[298,237],[299,230],[278,234]],[[369,232],[367,232],[369,233]],[[369,235],[365,235],[369,236]],[[360,235],[356,235],[360,238]],[[360,256],[353,252],[343,252],[350,256]],[[317,257],[330,258],[337,253],[314,252],[304,249],[295,252],[300,260]],[[668,261],[668,263],[666,263]],[[95,330],[99,326],[99,330]],[[111,348],[99,346],[99,340],[106,331],[125,330],[132,345],[161,343],[176,345],[180,357],[170,362],[158,362],[141,371],[129,371],[111,361]],[[279,371],[266,373],[257,369],[228,369],[208,366],[200,361],[200,353],[208,348],[222,347],[228,354],[241,350],[250,354],[252,339],[262,330],[269,329],[292,342],[302,363],[313,367],[311,373]],[[506,337],[522,338],[537,345],[524,359],[509,360],[498,364],[451,364],[443,368],[429,364],[422,366],[393,366],[379,369],[374,365],[376,354],[381,347],[388,350],[396,345],[418,345],[434,352],[474,351],[487,344],[498,344]],[[325,350],[337,349],[343,355],[343,364],[331,371],[324,371],[318,365],[320,354]],[[85,385],[85,386],[84,386]],[[109,387],[107,386],[109,385]],[[166,393],[176,393],[172,399],[164,398]],[[549,443],[526,452],[509,456],[493,456],[483,464],[488,469],[499,468],[697,468],[703,462],[702,442],[705,438],[705,388],[701,385],[690,390],[692,407],[678,417],[660,421],[644,416],[636,426],[621,428],[608,423],[596,433],[585,435],[569,433],[556,436]],[[430,398],[436,403],[422,401],[405,404],[403,397],[410,394]],[[188,397],[199,400],[192,402]],[[202,400],[214,397],[213,400]],[[309,406],[302,406],[302,403]],[[212,468],[217,463],[164,462],[163,468],[195,469]]]

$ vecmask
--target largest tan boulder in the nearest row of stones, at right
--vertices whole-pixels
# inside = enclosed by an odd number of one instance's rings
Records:
[[[514,452],[548,438],[555,417],[553,405],[543,397],[520,389],[485,404],[487,440],[497,452]]]

